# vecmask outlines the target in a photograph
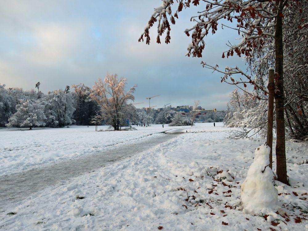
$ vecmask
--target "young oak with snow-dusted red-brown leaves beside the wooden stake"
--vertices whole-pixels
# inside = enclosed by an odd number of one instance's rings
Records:
[[[183,9],[187,9],[193,4],[199,6],[202,4],[201,10],[191,17],[191,21],[196,24],[186,29],[184,32],[187,36],[191,36],[192,43],[188,46],[187,55],[193,57],[202,57],[202,51],[205,48],[205,37],[212,32],[214,34],[219,22],[222,27],[229,27],[238,31],[241,36],[241,41],[238,44],[229,45],[225,56],[233,56],[233,54],[245,55],[247,63],[258,66],[261,60],[274,57],[275,72],[276,72],[276,91],[275,91],[275,107],[276,107],[276,122],[277,122],[277,141],[276,141],[276,156],[277,156],[277,175],[278,180],[287,183],[286,176],[286,152],[285,152],[285,124],[284,124],[284,50],[283,50],[283,27],[284,22],[293,17],[294,12],[298,9],[297,6],[307,4],[305,0],[178,0],[178,5],[174,6],[174,0],[163,0],[161,6],[155,8],[154,13],[150,17],[144,32],[141,34],[139,41],[146,38],[146,43],[150,43],[149,29],[158,22],[156,42],[160,43],[160,37],[166,31],[165,43],[170,43],[170,23],[175,24],[175,18],[178,18],[178,13]],[[176,7],[175,13],[172,15],[172,8]],[[302,9],[298,10],[302,14]],[[170,19],[167,17],[170,15]],[[228,25],[224,25],[228,20]],[[304,21],[305,19],[303,19]],[[302,19],[295,20],[294,25],[301,30],[307,27],[306,22]],[[226,41],[227,42],[227,41]],[[226,55],[225,55],[226,54]],[[256,61],[259,60],[259,63]],[[252,78],[251,75],[238,67],[226,67],[225,71],[218,69],[218,65],[211,66],[203,62],[204,67],[219,71],[224,74],[221,81],[230,84],[252,84],[256,93],[259,91],[262,94],[268,94],[266,86],[264,86],[263,76]],[[234,74],[241,74],[238,80],[234,79]],[[261,81],[260,81],[261,80]],[[265,81],[266,82],[266,81]],[[261,83],[261,84],[260,84]],[[260,95],[257,95],[260,97]]]

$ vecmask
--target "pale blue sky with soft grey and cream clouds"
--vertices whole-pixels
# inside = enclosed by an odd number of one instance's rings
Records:
[[[221,59],[225,43],[237,32],[227,29],[209,35],[202,58],[186,57],[193,26],[190,16],[201,8],[179,14],[172,25],[171,44],[138,43],[153,9],[160,0],[118,1],[15,1],[0,6],[0,83],[30,90],[40,81],[44,93],[66,85],[93,86],[107,72],[138,84],[136,105],[146,107],[146,97],[160,95],[151,105],[193,105],[224,110],[234,86],[220,82],[219,73],[202,68],[201,61],[220,67],[244,64],[238,58]],[[164,39],[162,39],[163,41]]]

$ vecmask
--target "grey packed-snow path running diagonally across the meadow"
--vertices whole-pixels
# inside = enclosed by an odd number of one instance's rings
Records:
[[[114,149],[63,161],[43,168],[33,168],[27,171],[4,175],[0,177],[1,211],[9,204],[22,201],[32,193],[57,184],[61,180],[78,177],[86,172],[95,171],[107,164],[143,152],[175,135],[167,134],[149,138],[136,144],[115,146]]]

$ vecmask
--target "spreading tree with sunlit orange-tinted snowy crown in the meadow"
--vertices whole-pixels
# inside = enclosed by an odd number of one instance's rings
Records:
[[[107,73],[103,81],[99,79],[98,82],[94,82],[91,97],[102,107],[104,117],[109,119],[113,128],[119,131],[124,115],[124,105],[128,100],[135,99],[132,94],[137,85],[125,91],[126,79],[117,77],[117,74]]]

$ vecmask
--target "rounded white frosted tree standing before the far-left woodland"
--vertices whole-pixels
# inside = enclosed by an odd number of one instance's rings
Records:
[[[7,127],[29,127],[45,126],[46,116],[44,114],[44,105],[41,100],[27,99],[16,105],[16,112],[9,119]]]

